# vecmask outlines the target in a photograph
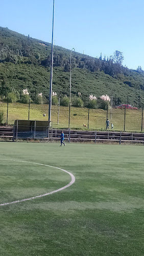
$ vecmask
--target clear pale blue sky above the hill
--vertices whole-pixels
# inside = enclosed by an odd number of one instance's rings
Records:
[[[0,2],[1,27],[52,41],[53,0]],[[55,0],[55,45],[102,58],[117,50],[124,66],[144,70],[143,10],[143,0]]]

